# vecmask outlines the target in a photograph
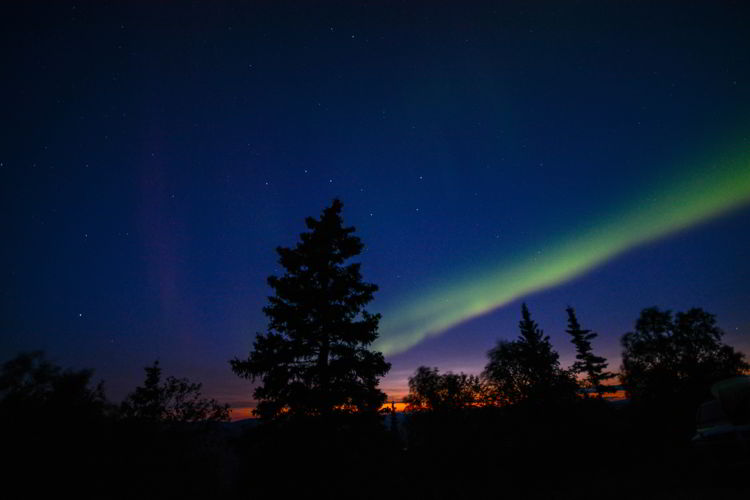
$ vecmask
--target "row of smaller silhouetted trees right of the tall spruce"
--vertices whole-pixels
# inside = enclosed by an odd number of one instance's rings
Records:
[[[566,309],[576,361],[561,368],[548,336],[521,305],[520,335],[491,349],[481,376],[421,366],[409,379],[405,398],[411,411],[455,410],[481,405],[555,404],[578,397],[601,398],[607,380],[605,358],[594,354],[595,332],[584,329],[572,307]],[[747,373],[744,355],[722,342],[715,315],[700,308],[673,315],[651,307],[641,311],[633,332],[621,338],[619,380],[634,404],[693,408],[709,396],[710,386]]]

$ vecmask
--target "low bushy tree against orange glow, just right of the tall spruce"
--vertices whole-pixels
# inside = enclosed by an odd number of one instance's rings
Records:
[[[437,368],[420,366],[409,377],[409,394],[404,398],[408,411],[459,410],[480,403],[479,377],[465,373],[440,374]]]

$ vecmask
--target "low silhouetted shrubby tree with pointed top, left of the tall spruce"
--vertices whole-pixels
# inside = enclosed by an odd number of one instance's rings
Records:
[[[125,398],[120,415],[148,423],[198,423],[229,420],[229,405],[201,396],[201,384],[188,379],[167,377],[161,383],[161,368],[155,361],[145,368],[142,386]]]

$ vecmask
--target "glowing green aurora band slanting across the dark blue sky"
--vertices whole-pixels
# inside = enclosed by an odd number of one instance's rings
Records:
[[[552,242],[541,255],[487,265],[384,311],[375,349],[398,354],[422,340],[533,292],[576,278],[635,246],[743,206],[750,201],[750,159],[705,162],[662,189],[650,186],[638,203],[578,234]]]

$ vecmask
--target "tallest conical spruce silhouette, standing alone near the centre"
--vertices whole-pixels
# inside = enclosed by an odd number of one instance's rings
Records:
[[[376,411],[385,402],[377,384],[390,364],[368,349],[380,315],[364,309],[378,287],[362,281],[359,263],[344,265],[363,245],[343,227],[341,208],[334,200],[320,220],[305,220],[309,231],[294,248],[276,249],[286,272],[268,278],[269,331],[246,360],[231,361],[237,375],[261,381],[253,395],[262,418]]]

